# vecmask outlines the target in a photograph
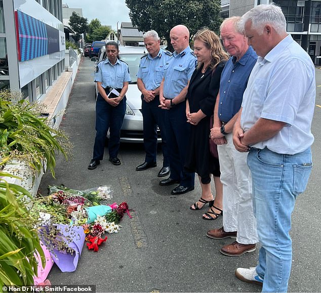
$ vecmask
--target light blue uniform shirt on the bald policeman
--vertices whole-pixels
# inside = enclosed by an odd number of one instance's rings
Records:
[[[166,99],[174,99],[182,91],[190,80],[196,65],[197,58],[190,46],[179,54],[174,52],[165,67],[163,95]]]

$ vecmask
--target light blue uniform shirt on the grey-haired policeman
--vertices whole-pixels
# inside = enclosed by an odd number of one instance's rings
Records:
[[[152,58],[149,53],[141,58],[137,77],[142,80],[147,90],[154,90],[160,85],[164,77],[165,65],[171,56],[171,52],[161,48],[155,58]]]

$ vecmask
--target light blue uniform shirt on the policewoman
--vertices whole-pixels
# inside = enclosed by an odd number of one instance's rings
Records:
[[[125,81],[131,81],[127,63],[119,59],[114,65],[108,59],[100,61],[95,72],[95,82],[97,81],[101,82],[103,88],[123,88]]]

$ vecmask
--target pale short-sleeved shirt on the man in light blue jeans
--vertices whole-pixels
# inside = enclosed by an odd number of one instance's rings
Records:
[[[255,143],[278,154],[294,155],[311,146],[315,104],[315,69],[309,55],[288,35],[264,58],[259,57],[244,92],[241,127],[259,118],[286,122],[276,135]]]

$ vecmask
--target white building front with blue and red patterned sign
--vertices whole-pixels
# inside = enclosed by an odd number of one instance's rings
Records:
[[[61,0],[0,0],[0,89],[42,100],[65,70]]]

